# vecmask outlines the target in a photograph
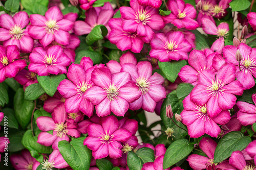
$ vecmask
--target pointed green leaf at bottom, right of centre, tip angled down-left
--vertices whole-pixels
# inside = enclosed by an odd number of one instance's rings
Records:
[[[174,141],[167,148],[163,158],[163,168],[166,169],[173,166],[193,151],[194,145],[189,144],[187,139],[179,139]]]

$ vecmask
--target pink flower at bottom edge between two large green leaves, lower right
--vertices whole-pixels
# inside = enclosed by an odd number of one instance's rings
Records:
[[[199,142],[200,149],[207,155],[201,156],[197,154],[189,155],[186,159],[188,161],[188,164],[191,168],[194,170],[202,170],[206,169],[208,166],[214,165],[214,152],[217,147],[216,141],[214,141],[211,138],[204,137]],[[221,163],[218,163],[216,168],[220,169],[236,169],[233,166],[229,165],[228,161],[223,161]]]

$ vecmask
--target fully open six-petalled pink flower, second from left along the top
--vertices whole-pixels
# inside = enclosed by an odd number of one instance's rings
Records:
[[[62,45],[68,45],[70,34],[68,31],[73,29],[74,22],[64,19],[58,7],[50,8],[45,16],[39,14],[30,15],[31,27],[28,33],[46,47],[53,40]]]

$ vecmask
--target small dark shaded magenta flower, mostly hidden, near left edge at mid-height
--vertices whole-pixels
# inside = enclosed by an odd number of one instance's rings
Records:
[[[38,83],[36,74],[26,69],[19,71],[14,77],[14,80],[16,80],[20,85],[23,85],[24,91],[29,85]]]

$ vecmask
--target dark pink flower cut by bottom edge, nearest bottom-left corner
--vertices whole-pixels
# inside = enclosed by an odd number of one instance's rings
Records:
[[[28,150],[22,150],[20,154],[10,156],[12,166],[17,170],[31,169],[36,170],[40,162],[33,158]]]

